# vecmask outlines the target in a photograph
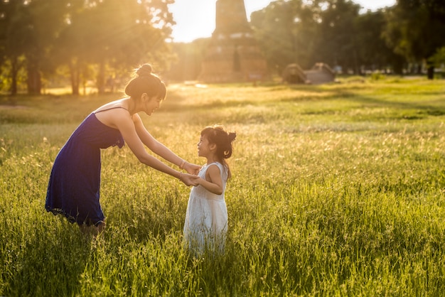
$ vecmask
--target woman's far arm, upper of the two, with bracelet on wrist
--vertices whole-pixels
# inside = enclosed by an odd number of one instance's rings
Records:
[[[136,134],[141,139],[142,143],[145,144],[151,151],[156,153],[156,155],[161,156],[165,160],[176,164],[181,169],[186,169],[188,173],[198,174],[200,170],[200,166],[188,163],[180,158],[176,153],[173,153],[168,147],[161,144],[161,142],[157,141],[149,131],[145,129],[144,124],[142,124],[141,117],[139,114],[133,115],[134,128],[136,129]]]

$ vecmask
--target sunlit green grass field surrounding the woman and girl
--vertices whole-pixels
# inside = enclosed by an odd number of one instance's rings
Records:
[[[104,237],[45,212],[58,150],[119,95],[0,97],[0,296],[441,296],[445,83],[170,85],[151,117],[188,161],[209,124],[237,131],[225,254],[182,246],[191,190],[102,151]],[[14,105],[11,105],[11,102]]]

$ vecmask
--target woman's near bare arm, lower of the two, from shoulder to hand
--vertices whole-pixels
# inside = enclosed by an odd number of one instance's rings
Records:
[[[144,144],[142,144],[141,139],[139,139],[138,134],[136,134],[134,123],[132,119],[130,119],[127,111],[124,109],[115,110],[114,124],[121,132],[127,146],[132,150],[134,156],[136,156],[141,163],[144,163],[157,171],[172,175],[186,185],[196,185],[195,179],[197,177],[176,171],[145,151]]]

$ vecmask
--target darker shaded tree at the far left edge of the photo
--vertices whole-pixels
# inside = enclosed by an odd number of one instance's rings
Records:
[[[65,0],[2,1],[1,52],[11,65],[12,94],[17,91],[16,75],[22,67],[27,71],[28,93],[40,94],[42,72],[54,69],[48,48],[55,44],[66,6]]]

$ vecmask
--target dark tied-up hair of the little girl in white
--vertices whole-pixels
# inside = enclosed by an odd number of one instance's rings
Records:
[[[227,169],[227,178],[230,178],[230,168],[225,159],[232,156],[232,141],[237,137],[236,132],[227,132],[223,126],[207,126],[201,131],[201,136],[205,136],[210,144],[216,145],[216,158]]]

